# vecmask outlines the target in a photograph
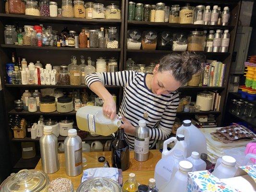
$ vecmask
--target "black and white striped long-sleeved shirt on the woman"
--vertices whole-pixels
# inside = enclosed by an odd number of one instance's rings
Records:
[[[179,105],[178,92],[160,96],[153,94],[146,86],[146,73],[143,72],[95,72],[85,77],[89,87],[97,81],[104,85],[120,85],[124,88],[118,115],[123,115],[134,127],[138,126],[139,120],[146,120],[146,126],[149,128],[149,148],[154,147],[158,140],[169,137]],[[143,117],[146,110],[147,119]],[[134,135],[126,133],[125,138],[130,148],[134,149]]]

